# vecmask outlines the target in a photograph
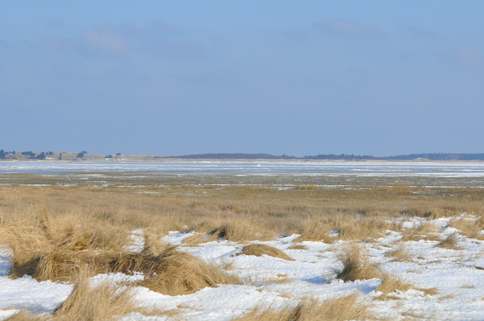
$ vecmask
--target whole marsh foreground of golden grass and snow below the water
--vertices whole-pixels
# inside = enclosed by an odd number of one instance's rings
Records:
[[[1,175],[0,317],[484,320],[482,178],[244,177]]]

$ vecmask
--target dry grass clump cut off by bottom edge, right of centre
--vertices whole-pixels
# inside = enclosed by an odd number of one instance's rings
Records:
[[[356,293],[331,298],[323,303],[315,299],[304,299],[296,307],[282,310],[255,308],[245,316],[233,321],[346,321],[375,319],[369,310],[370,305],[362,303]]]

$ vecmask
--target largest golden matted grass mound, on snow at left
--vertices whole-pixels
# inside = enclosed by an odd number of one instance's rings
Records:
[[[52,224],[47,215],[42,218],[35,233],[4,229],[2,238],[14,249],[11,277],[27,274],[39,281],[73,281],[84,270],[89,271],[89,276],[142,272],[145,279],[138,285],[170,295],[193,293],[221,283],[240,284],[238,277],[179,252],[175,246],[161,243],[157,235],[146,233],[144,248],[139,253],[129,252],[125,250],[130,244],[128,237],[121,239],[124,243],[113,240],[121,237],[116,234],[116,228],[105,226],[99,228],[99,233],[92,233],[88,232],[91,228],[96,230],[88,225],[70,232],[70,225],[66,228],[62,224]],[[98,234],[102,237],[97,237]],[[58,235],[65,235],[65,238]]]

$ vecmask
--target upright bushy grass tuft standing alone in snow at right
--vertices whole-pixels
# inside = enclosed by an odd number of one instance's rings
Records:
[[[336,259],[340,266],[334,267],[332,272],[344,282],[382,278],[384,275],[380,264],[371,263],[367,250],[362,246],[351,245],[336,254]]]

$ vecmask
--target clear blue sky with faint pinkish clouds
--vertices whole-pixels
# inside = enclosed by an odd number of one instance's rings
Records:
[[[484,1],[1,1],[0,148],[484,152]]]

